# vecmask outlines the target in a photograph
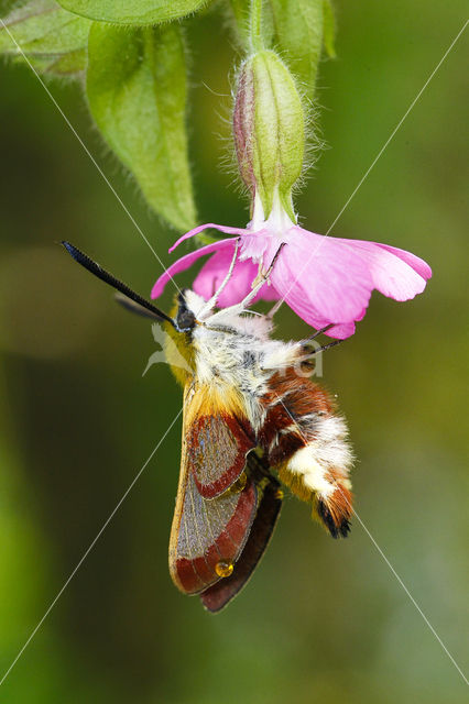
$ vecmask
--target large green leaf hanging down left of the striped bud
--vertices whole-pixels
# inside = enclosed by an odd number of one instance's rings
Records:
[[[181,29],[94,23],[88,44],[89,108],[109,146],[150,206],[181,230],[196,221],[185,129]]]

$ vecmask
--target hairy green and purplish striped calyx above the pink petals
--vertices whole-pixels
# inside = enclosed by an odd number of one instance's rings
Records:
[[[233,133],[239,170],[251,193],[251,204],[258,196],[268,218],[277,193],[290,218],[296,221],[292,187],[303,167],[305,118],[294,79],[275,52],[259,51],[241,65]]]

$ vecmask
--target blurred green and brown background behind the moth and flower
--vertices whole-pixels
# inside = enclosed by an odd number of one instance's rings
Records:
[[[11,3],[8,3],[11,4]],[[7,8],[4,4],[3,9]],[[325,232],[462,26],[467,6],[336,2],[325,150],[298,198]],[[185,23],[200,222],[243,224],[227,154],[233,48],[216,7]],[[373,296],[325,359],[358,457],[357,510],[462,669],[467,651],[467,33],[332,234],[427,260],[407,304]],[[465,66],[466,64],[466,66]],[[44,89],[0,66],[0,676],[181,407],[150,324],[63,253],[67,238],[142,293],[159,263]],[[165,264],[175,233],[107,154],[75,86],[51,90]],[[187,276],[181,282],[190,283]],[[168,307],[172,293],[162,306]],[[277,333],[305,328],[285,309]],[[466,686],[369,535],[332,541],[285,501],[253,580],[221,614],[167,572],[176,424],[0,688],[4,702],[462,702]]]

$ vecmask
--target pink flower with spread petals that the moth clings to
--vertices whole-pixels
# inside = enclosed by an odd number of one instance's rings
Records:
[[[308,232],[294,224],[281,208],[275,208],[268,220],[255,222],[254,216],[247,229],[214,223],[199,226],[179,238],[170,252],[208,228],[241,238],[238,261],[219,297],[219,307],[242,300],[258,273],[265,272],[284,242],[270,275],[271,285],[265,284],[258,298],[284,299],[316,329],[337,323],[328,331],[335,338],[353,334],[355,323],[363,318],[373,289],[394,300],[408,300],[424,290],[432,276],[428,264],[405,250]],[[228,272],[236,241],[237,238],[220,240],[181,257],[160,276],[152,298],[162,294],[175,274],[187,270],[199,257],[212,254],[193,285],[197,294],[208,299]]]

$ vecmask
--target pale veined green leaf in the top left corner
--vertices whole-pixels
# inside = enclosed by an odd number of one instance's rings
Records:
[[[54,0],[31,0],[4,18],[3,24],[3,55],[23,61],[23,52],[41,73],[67,75],[85,68],[91,22],[63,10]]]

